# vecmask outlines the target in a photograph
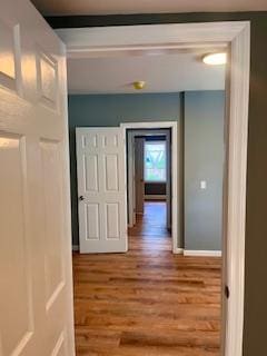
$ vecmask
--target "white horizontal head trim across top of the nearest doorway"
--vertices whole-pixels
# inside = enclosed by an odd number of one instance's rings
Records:
[[[66,43],[68,57],[96,58],[112,57],[118,52],[134,55],[136,51],[221,48],[228,46],[244,23],[247,22],[144,24],[58,29],[56,32]]]

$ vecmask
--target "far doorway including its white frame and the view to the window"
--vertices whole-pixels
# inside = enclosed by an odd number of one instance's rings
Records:
[[[149,229],[157,234],[157,225],[152,228],[150,224],[152,210],[161,210],[158,233],[169,237],[172,253],[180,253],[177,122],[129,122],[120,127],[126,142],[128,238],[138,230],[140,235]]]

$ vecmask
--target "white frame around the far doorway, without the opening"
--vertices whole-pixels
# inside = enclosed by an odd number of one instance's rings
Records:
[[[125,140],[125,157],[127,159],[127,130],[138,129],[170,129],[170,140],[171,140],[171,246],[174,254],[180,254],[182,249],[180,239],[180,218],[178,211],[179,190],[178,190],[178,167],[180,167],[180,155],[178,155],[178,125],[177,121],[148,121],[148,122],[121,122],[120,127],[122,129],[123,140]],[[127,165],[126,170],[127,170]],[[127,185],[128,191],[128,185]],[[129,204],[127,195],[127,207]],[[178,247],[179,246],[179,247]]]

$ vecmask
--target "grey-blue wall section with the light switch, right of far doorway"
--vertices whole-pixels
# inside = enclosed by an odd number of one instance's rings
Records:
[[[224,91],[185,93],[186,249],[221,249],[224,108]]]

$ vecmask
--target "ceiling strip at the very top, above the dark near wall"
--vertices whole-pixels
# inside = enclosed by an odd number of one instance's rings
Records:
[[[43,14],[263,11],[266,0],[32,0]]]

